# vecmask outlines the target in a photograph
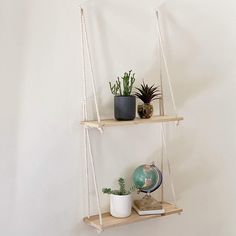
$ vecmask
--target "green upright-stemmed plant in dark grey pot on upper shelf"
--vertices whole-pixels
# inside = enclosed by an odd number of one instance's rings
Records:
[[[136,98],[131,95],[135,82],[132,70],[125,72],[115,84],[109,82],[111,93],[114,95],[114,116],[116,120],[133,120],[136,113]]]

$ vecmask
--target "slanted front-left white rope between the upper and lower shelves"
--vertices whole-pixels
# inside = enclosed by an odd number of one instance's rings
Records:
[[[92,149],[91,149],[91,141],[90,141],[88,129],[86,129],[86,133],[87,133],[87,139],[88,139],[88,150],[89,150],[89,155],[90,155],[90,164],[91,164],[91,168],[92,168],[93,182],[94,182],[95,193],[96,193],[99,223],[100,223],[100,225],[102,225],[102,212],[101,212],[100,198],[99,198],[99,193],[98,193],[97,177],[96,177],[96,172],[95,172],[93,153],[92,153]]]

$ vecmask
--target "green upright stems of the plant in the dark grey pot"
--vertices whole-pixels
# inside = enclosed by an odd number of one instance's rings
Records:
[[[132,74],[132,70],[130,70],[121,77],[122,83],[120,77],[117,78],[114,84],[109,82],[111,93],[115,96],[130,96],[135,82],[134,75],[135,73]]]

